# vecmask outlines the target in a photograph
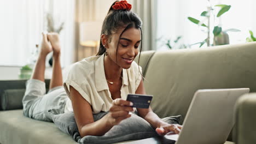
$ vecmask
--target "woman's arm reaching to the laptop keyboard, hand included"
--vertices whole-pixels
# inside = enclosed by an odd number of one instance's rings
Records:
[[[139,83],[139,86],[135,92],[136,94],[146,94],[143,80]],[[174,133],[178,134],[181,126],[180,125],[174,125],[174,124],[168,124],[164,121],[162,121],[161,118],[156,115],[151,107],[149,106],[149,109],[137,109],[138,115],[144,118],[148,123],[150,123],[155,129],[156,132],[159,135],[165,135],[166,133],[170,131],[174,131]]]

